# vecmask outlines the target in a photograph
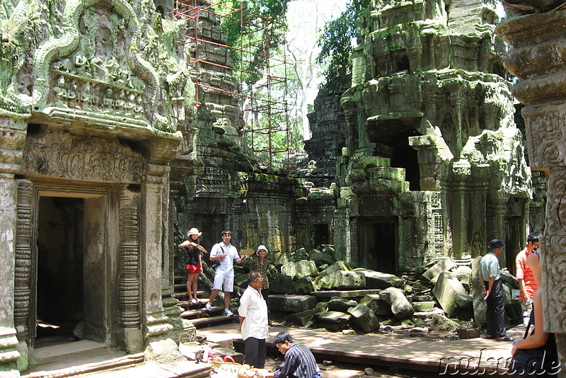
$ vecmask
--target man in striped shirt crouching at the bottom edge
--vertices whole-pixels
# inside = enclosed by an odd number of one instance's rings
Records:
[[[316,365],[313,353],[305,345],[294,343],[289,332],[277,333],[273,342],[279,352],[285,355],[285,359],[275,372],[263,374],[263,377],[320,378],[320,369]]]

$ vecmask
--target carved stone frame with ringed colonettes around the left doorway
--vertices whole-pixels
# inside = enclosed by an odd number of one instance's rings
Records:
[[[116,329],[111,314],[115,314],[118,306],[117,285],[118,277],[118,200],[115,185],[103,183],[79,183],[52,179],[18,179],[18,201],[16,204],[16,282],[14,290],[14,315],[18,340],[25,342],[29,350],[35,342],[35,323],[37,317],[37,237],[40,197],[76,197],[90,201],[91,207],[100,212],[98,220],[103,225],[103,263],[102,282],[97,288],[103,287],[102,326],[103,340],[107,345],[115,343]],[[101,208],[100,205],[103,205]],[[96,217],[93,217],[93,219]],[[115,238],[112,238],[112,235]],[[96,239],[98,241],[98,239]],[[94,244],[94,243],[91,243]],[[85,249],[88,248],[85,246]],[[105,251],[105,252],[104,252]],[[87,252],[85,252],[87,253]],[[97,277],[96,280],[98,281]],[[102,285],[101,285],[102,284]],[[85,285],[86,286],[86,285]],[[98,296],[100,297],[100,296]],[[96,299],[94,299],[96,300]]]

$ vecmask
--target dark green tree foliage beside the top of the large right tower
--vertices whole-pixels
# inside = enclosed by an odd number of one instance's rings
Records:
[[[352,0],[340,17],[326,23],[323,34],[318,41],[320,54],[317,62],[328,61],[324,71],[325,83],[320,91],[332,93],[350,86],[352,81],[352,39],[356,37],[356,21],[362,12],[369,7],[369,0]]]

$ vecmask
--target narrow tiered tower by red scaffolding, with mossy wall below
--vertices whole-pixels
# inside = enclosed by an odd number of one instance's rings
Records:
[[[207,1],[185,3],[175,12],[179,19],[187,18],[198,103],[195,134],[183,141],[190,148],[172,162],[175,235],[183,238],[187,229],[198,227],[201,243],[209,249],[220,241],[221,231],[230,229],[238,248],[267,244],[270,251],[292,251],[294,200],[303,194],[301,185],[285,171],[261,166],[243,146],[241,98],[234,94],[238,84],[226,68],[232,67],[230,51],[219,47],[226,45],[226,35],[219,32],[221,20],[209,11]],[[195,22],[198,43],[192,37]],[[298,218],[306,222],[309,217],[304,212]]]

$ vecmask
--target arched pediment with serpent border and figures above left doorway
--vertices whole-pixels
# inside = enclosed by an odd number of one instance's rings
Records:
[[[33,108],[61,123],[171,128],[158,74],[144,57],[151,35],[126,1],[67,1],[62,25],[35,54]],[[155,42],[155,41],[153,41]]]

